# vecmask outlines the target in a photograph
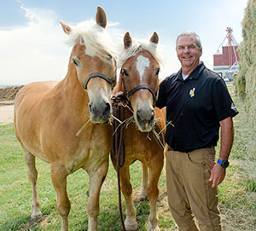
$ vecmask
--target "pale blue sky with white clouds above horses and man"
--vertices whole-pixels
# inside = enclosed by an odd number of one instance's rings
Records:
[[[137,40],[158,33],[160,78],[166,78],[180,68],[175,43],[181,32],[200,36],[201,61],[210,69],[226,27],[240,43],[247,0],[0,0],[0,85],[65,78],[72,48],[60,20],[75,26],[95,19],[97,6],[107,14],[107,28],[116,24],[114,30]]]

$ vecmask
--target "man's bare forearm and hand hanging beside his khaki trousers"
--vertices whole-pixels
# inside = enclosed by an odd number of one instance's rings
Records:
[[[220,151],[218,159],[228,160],[234,140],[234,127],[231,117],[224,118],[220,124]],[[211,171],[209,182],[212,183],[212,188],[216,188],[218,184],[223,182],[226,170],[218,164],[215,164]]]

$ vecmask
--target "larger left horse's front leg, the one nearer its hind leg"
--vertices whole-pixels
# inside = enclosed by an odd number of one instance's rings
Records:
[[[53,163],[50,165],[50,176],[57,195],[57,210],[61,215],[61,231],[67,231],[70,211],[70,201],[67,196],[68,172],[63,165]]]

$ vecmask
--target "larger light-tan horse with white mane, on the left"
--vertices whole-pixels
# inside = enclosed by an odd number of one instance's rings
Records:
[[[111,149],[108,121],[116,80],[106,24],[106,14],[99,7],[96,23],[85,21],[72,28],[61,22],[73,44],[66,78],[59,83],[28,84],[15,98],[15,132],[24,150],[32,183],[31,218],[41,217],[35,166],[35,157],[38,157],[50,164],[62,231],[68,230],[71,207],[67,176],[80,168],[90,177],[88,230],[97,229],[99,194],[107,175]],[[81,129],[84,124],[86,130]]]

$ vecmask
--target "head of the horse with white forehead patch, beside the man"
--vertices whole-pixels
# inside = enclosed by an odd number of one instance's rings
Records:
[[[156,32],[150,43],[132,44],[129,32],[124,37],[124,52],[121,55],[120,79],[122,89],[131,102],[137,128],[148,132],[154,124],[154,103],[159,89],[160,64],[156,53]]]

